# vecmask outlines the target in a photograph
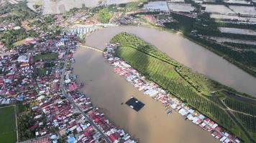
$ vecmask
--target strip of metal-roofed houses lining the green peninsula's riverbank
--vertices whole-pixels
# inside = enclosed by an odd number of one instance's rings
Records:
[[[104,52],[104,58],[112,66],[114,66],[114,72],[124,77],[129,84],[132,84],[135,88],[140,91],[143,91],[145,95],[152,97],[152,99],[162,102],[166,107],[167,114],[171,114],[171,111],[176,111],[188,119],[193,124],[198,125],[204,130],[211,132],[211,135],[216,139],[219,139],[221,142],[236,142],[239,143],[239,139],[234,137],[232,134],[225,132],[225,129],[222,129],[218,124],[211,121],[211,119],[205,117],[203,114],[196,112],[191,107],[186,106],[179,99],[170,96],[165,90],[161,89],[154,82],[148,82],[136,69],[133,69],[132,66],[127,64],[119,57],[114,57],[114,51],[118,44],[110,44],[106,46],[106,51]]]

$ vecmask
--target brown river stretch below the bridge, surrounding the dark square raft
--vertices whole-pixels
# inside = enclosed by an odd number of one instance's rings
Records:
[[[111,122],[134,139],[142,143],[217,142],[209,132],[184,120],[177,112],[166,114],[163,104],[145,96],[115,74],[99,51],[79,47],[74,58],[73,73],[78,75],[78,82],[86,83],[81,90]],[[122,104],[132,96],[145,104],[139,112]]]

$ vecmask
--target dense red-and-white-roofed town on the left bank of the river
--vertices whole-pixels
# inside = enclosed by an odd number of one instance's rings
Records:
[[[33,50],[0,56],[0,104],[29,104],[31,114],[29,130],[35,133],[33,142],[104,142],[104,137],[78,112],[78,109],[61,92],[63,61],[68,55],[75,62],[75,36],[55,36],[32,43]],[[24,44],[20,48],[26,49]],[[31,45],[29,44],[29,47]],[[76,82],[71,66],[65,74],[64,88],[72,100],[104,131],[111,142],[134,143],[129,134],[117,129],[104,114],[93,107],[90,98],[78,92],[83,84]],[[19,121],[18,121],[19,122]],[[22,131],[19,131],[22,132]]]

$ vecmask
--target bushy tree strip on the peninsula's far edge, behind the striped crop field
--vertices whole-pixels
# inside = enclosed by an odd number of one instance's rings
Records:
[[[160,59],[168,64],[175,66],[175,71],[180,74],[180,77],[186,79],[186,81],[191,84],[191,87],[196,89],[198,92],[202,92],[202,94],[209,94],[212,91],[226,88],[211,79],[207,79],[201,74],[193,73],[191,69],[188,69],[185,66],[179,64],[177,61],[170,59],[167,54],[158,51],[154,46],[147,44],[145,41],[138,39],[136,36],[121,33],[114,36],[111,42],[132,46],[134,48],[136,47],[136,49],[143,51],[150,56],[154,56],[157,59]]]

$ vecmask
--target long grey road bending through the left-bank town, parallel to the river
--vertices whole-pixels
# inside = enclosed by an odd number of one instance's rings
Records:
[[[61,91],[63,92],[63,95],[68,99],[70,104],[73,104],[73,106],[76,107],[78,112],[80,112],[81,114],[83,114],[84,117],[86,117],[86,119],[88,120],[88,122],[90,122],[90,124],[94,127],[94,129],[96,129],[101,134],[101,137],[103,137],[106,142],[111,143],[111,141],[109,140],[109,137],[106,137],[104,132],[101,129],[99,129],[99,127],[93,122],[93,120],[90,117],[88,117],[87,114],[85,114],[83,112],[83,109],[81,109],[81,107],[79,107],[78,104],[76,104],[76,102],[73,101],[71,95],[66,91],[66,89],[64,87],[64,77],[65,77],[66,66],[67,66],[67,63],[68,63],[67,62],[67,60],[68,60],[67,57],[68,56],[65,55],[65,64],[63,66],[63,72],[61,74],[61,79],[60,79],[60,88],[61,88]]]

